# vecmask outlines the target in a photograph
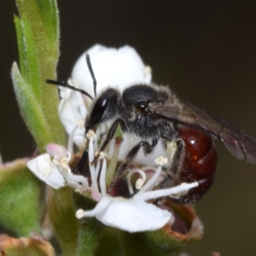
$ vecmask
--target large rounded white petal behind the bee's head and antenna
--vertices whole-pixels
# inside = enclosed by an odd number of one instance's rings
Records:
[[[93,72],[97,80],[97,93],[106,86],[125,86],[150,83],[151,70],[146,67],[138,53],[128,45],[119,49],[94,45],[77,60],[72,71],[72,80],[94,97],[92,76],[88,70],[85,54],[90,55]]]

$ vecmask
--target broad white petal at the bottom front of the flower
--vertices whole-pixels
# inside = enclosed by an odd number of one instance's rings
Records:
[[[172,214],[142,200],[113,200],[104,211],[96,214],[105,225],[128,232],[157,230],[163,227]]]

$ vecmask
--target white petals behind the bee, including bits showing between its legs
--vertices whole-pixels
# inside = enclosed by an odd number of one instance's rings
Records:
[[[94,45],[88,51],[84,52],[72,71],[72,78],[68,80],[68,84],[76,86],[88,92],[92,97],[93,93],[93,79],[88,70],[85,54],[90,55],[92,62],[93,72],[97,79],[97,93],[114,86],[122,91],[127,86],[136,83],[149,84],[151,82],[151,70],[145,66],[138,53],[129,46],[120,47],[119,49],[107,48],[102,45]],[[74,132],[74,142],[77,147],[83,151],[86,138],[84,136],[84,129],[79,126],[77,129],[77,122],[84,120],[87,114],[87,109],[90,108],[92,100],[82,95],[81,93],[74,92],[67,88],[60,88],[61,101],[59,105],[59,115],[61,122],[65,126],[68,134]],[[100,125],[101,131],[106,132],[106,125]],[[102,131],[103,129],[103,131]],[[136,134],[123,134],[123,143],[120,148],[119,158],[125,159],[127,152],[131,150],[140,138]],[[112,156],[115,147],[114,141],[109,144],[108,155]],[[145,156],[141,148],[136,156],[136,161],[140,164],[156,165],[154,158],[158,156],[166,156],[166,150],[161,140],[156,145],[152,152],[153,155]]]

